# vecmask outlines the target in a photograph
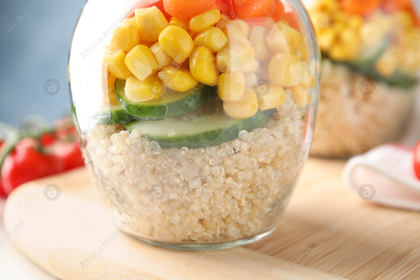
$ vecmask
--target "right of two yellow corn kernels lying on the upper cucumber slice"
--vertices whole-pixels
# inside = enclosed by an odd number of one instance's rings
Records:
[[[160,79],[166,86],[177,92],[186,92],[197,86],[198,81],[194,79],[188,69],[175,68],[173,66],[164,67],[158,73]]]

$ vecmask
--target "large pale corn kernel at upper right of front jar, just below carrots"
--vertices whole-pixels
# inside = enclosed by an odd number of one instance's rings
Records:
[[[267,43],[272,52],[293,52],[301,40],[299,31],[282,22],[274,24],[267,35]]]

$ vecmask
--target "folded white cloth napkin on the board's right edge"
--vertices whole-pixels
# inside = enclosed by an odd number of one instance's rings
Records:
[[[414,146],[386,144],[351,158],[344,181],[361,199],[420,210],[420,181],[414,173]]]

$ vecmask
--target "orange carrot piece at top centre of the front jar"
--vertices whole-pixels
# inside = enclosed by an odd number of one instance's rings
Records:
[[[210,10],[216,0],[163,0],[165,11],[176,18],[190,19]]]

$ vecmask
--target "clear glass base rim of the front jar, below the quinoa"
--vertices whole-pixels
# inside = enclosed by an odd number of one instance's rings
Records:
[[[211,250],[223,250],[223,249],[229,249],[234,247],[239,247],[243,245],[247,245],[250,243],[255,243],[257,241],[260,241],[265,236],[268,236],[270,233],[272,233],[274,230],[276,230],[277,227],[272,228],[264,233],[260,233],[257,236],[252,236],[249,238],[243,238],[235,241],[228,241],[228,242],[220,242],[220,243],[206,243],[206,244],[188,244],[188,243],[166,243],[166,242],[159,242],[159,241],[153,241],[146,238],[139,238],[137,236],[131,235],[131,237],[135,238],[136,240],[139,240],[142,243],[146,243],[152,246],[165,248],[165,249],[173,249],[173,250],[184,250],[184,251],[211,251]],[[217,240],[217,238],[216,238]]]

